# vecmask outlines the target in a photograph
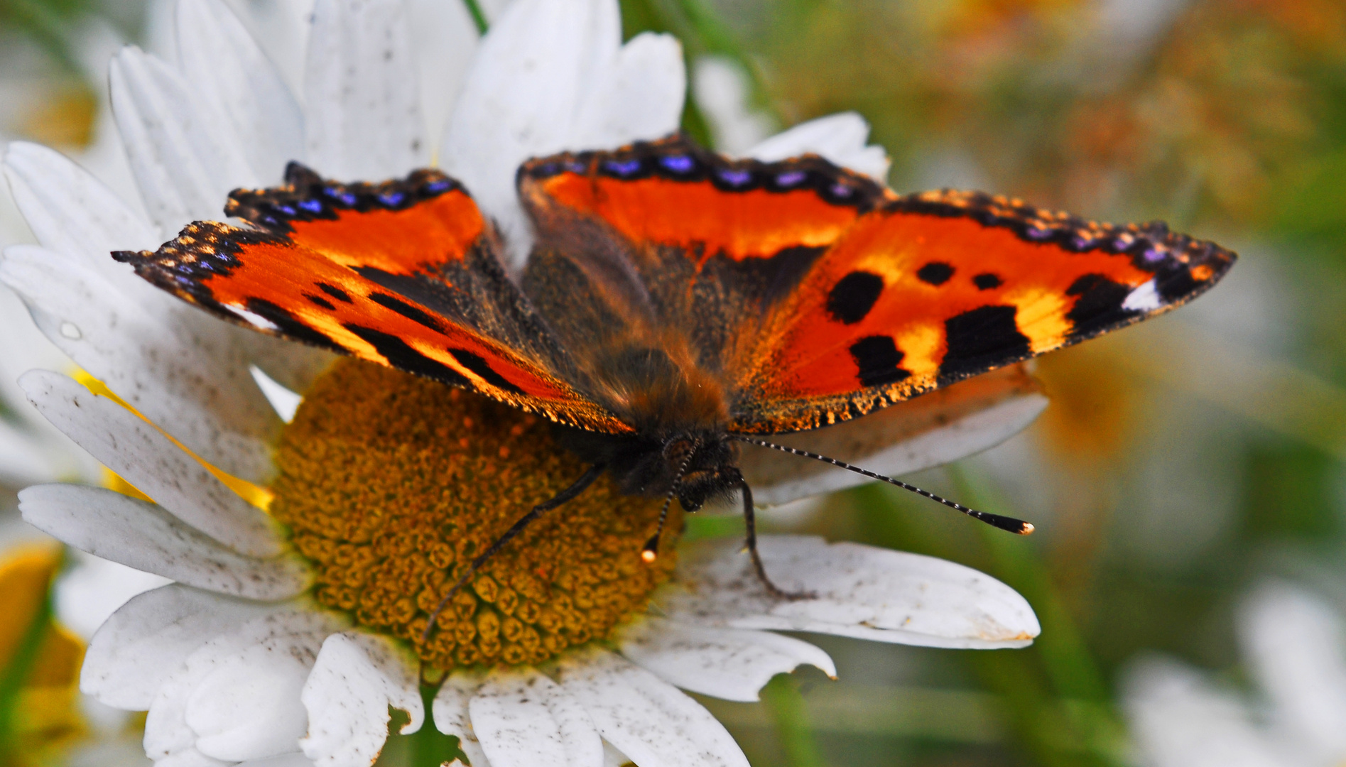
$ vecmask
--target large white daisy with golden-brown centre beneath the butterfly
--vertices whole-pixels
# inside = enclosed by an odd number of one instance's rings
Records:
[[[801,663],[835,674],[820,649],[777,631],[975,649],[1038,634],[1004,584],[870,546],[763,537],[781,585],[817,595],[798,601],[767,597],[738,542],[645,565],[658,503],[599,482],[482,568],[427,641],[455,564],[567,484],[577,460],[521,412],[219,323],[109,252],[218,217],[232,188],[275,184],[288,160],[345,179],[437,163],[498,222],[518,268],[518,163],[674,131],[678,43],[622,44],[612,0],[516,0],[446,108],[423,100],[397,0],[318,0],[299,96],[218,0],[180,0],[175,32],[176,62],[127,48],[109,75],[144,213],[61,155],[12,145],[5,174],[39,245],[0,264],[90,375],[30,371],[26,396],[143,494],[42,484],[22,492],[24,518],[174,581],[97,631],[81,680],[104,704],[148,710],[157,763],[369,764],[396,709],[393,729],[429,720],[474,767],[738,766],[727,731],[680,688],[748,701]],[[429,113],[448,114],[439,141]],[[865,135],[837,116],[747,153],[816,151],[874,172]],[[288,425],[264,388],[304,394]],[[996,444],[1043,404],[1014,367],[808,444],[900,474]],[[770,455],[743,471],[767,503],[861,480]]]

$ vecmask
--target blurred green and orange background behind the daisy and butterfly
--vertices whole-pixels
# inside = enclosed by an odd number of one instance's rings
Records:
[[[145,39],[148,16],[0,0],[0,132],[87,143],[104,94],[79,31]],[[1128,662],[1167,653],[1254,696],[1233,616],[1250,585],[1284,577],[1346,606],[1346,4],[627,0],[623,17],[742,73],[765,126],[859,112],[898,191],[1164,219],[1241,254],[1193,305],[1043,358],[1051,405],[1028,432],[911,478],[1032,521],[1031,538],[872,486],[767,518],[979,568],[1028,597],[1043,634],[1020,651],[812,638],[839,682],[801,671],[763,705],[704,701],[754,764],[1135,763]],[[692,104],[685,128],[711,141]]]

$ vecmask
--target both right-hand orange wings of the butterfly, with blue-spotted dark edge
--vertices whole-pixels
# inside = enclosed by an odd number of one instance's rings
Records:
[[[979,192],[899,198],[820,157],[730,160],[677,137],[532,160],[520,191],[561,250],[565,231],[600,222],[568,245],[573,261],[595,241],[623,242],[625,262],[586,277],[633,270],[641,285],[586,301],[653,296],[645,336],[695,347],[685,357],[719,378],[735,432],[835,424],[1139,322],[1234,261],[1162,223]],[[571,335],[638,314],[618,307]]]

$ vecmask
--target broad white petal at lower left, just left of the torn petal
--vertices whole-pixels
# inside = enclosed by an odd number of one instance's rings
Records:
[[[300,690],[323,639],[343,627],[334,615],[295,608],[214,636],[155,694],[145,754],[241,762],[295,751],[308,727]]]

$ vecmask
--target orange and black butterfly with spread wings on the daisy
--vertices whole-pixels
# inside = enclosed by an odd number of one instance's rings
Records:
[[[752,562],[778,596],[790,595],[756,556],[740,444],[913,488],[762,437],[1163,314],[1236,258],[1159,222],[898,195],[817,156],[738,160],[682,136],[533,159],[517,187],[536,231],[518,276],[468,190],[435,170],[347,184],[291,163],[284,186],[230,194],[225,213],[245,226],[195,222],[157,252],[113,256],[225,319],[553,421],[591,468],[471,571],[610,472],[625,492],[664,495],[665,511],[740,492]],[[657,548],[658,533],[647,560]]]

